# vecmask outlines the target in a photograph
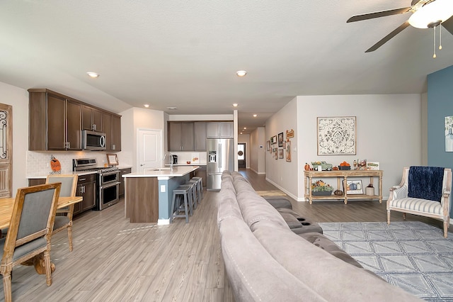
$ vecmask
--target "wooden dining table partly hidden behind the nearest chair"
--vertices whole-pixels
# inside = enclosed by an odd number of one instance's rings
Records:
[[[84,198],[82,196],[59,196],[57,208],[65,208],[74,203],[79,203]],[[13,215],[13,207],[16,198],[6,197],[0,198],[0,229],[8,228]],[[41,253],[30,262],[23,263],[24,265],[33,265],[38,274],[45,274],[44,256]],[[52,272],[55,271],[55,264],[51,264]]]

